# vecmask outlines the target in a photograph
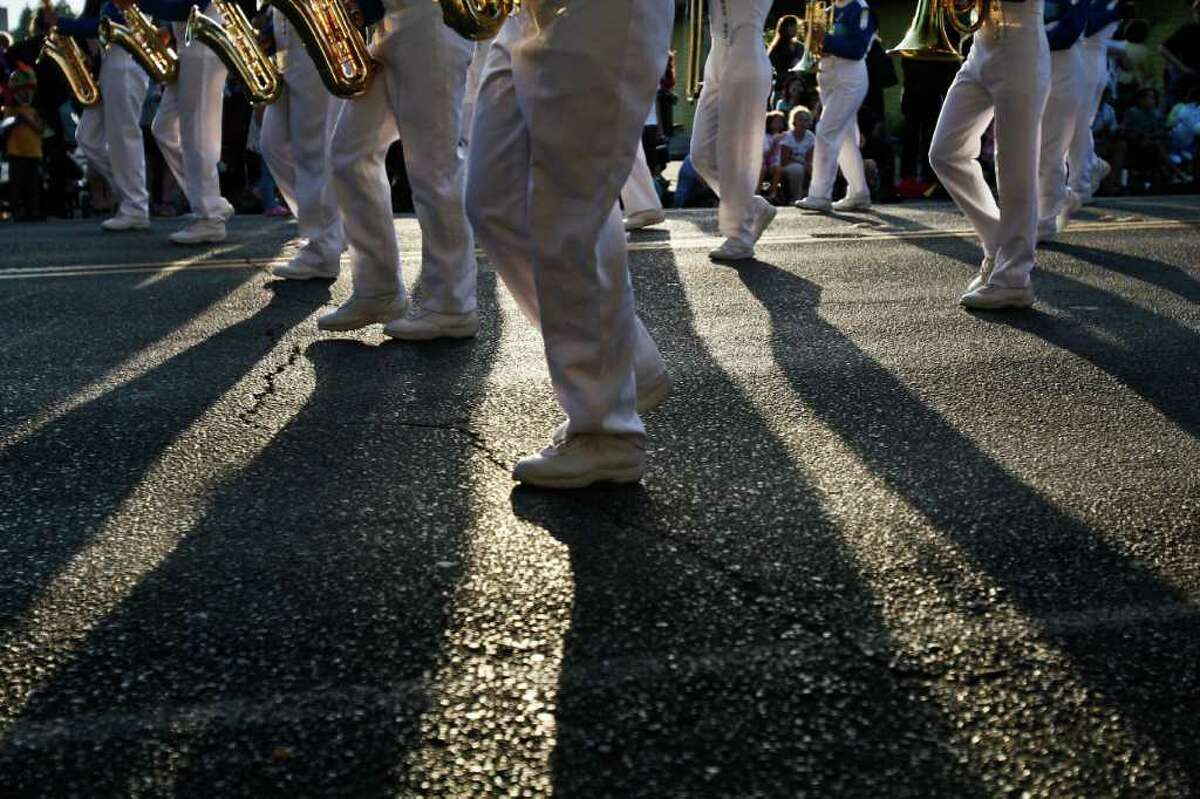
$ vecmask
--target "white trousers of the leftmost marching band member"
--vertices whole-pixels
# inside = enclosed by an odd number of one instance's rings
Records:
[[[150,192],[142,142],[142,103],[150,77],[128,52],[114,47],[100,65],[103,102],[84,109],[76,139],[88,163],[104,176],[122,216],[146,218]]]

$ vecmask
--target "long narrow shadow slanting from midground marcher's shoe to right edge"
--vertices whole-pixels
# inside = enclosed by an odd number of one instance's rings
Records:
[[[1070,659],[1097,705],[1200,785],[1200,716],[1182,702],[1198,689],[1195,615],[1124,627],[1120,638],[1048,624],[1097,608],[1177,608],[1186,596],[1014,477],[823,320],[815,284],[762,263],[738,274],[770,316],[775,362],[796,396],[1003,588],[1006,601]],[[1100,758],[1098,774],[1111,765]]]

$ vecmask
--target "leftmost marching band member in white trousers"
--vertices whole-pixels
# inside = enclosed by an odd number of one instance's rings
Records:
[[[106,2],[101,8],[100,0],[88,0],[79,17],[54,24],[68,36],[95,40],[101,14],[125,22],[114,4]],[[150,227],[150,192],[139,120],[150,78],[127,50],[113,47],[101,59],[98,84],[102,102],[84,109],[76,142],[116,198],[116,215],[100,227],[109,232],[145,230]]]

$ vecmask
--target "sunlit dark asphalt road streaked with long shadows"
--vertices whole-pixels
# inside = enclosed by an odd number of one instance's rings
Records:
[[[0,797],[1200,795],[1198,226],[1099,204],[973,314],[948,205],[673,215],[648,474],[566,493],[486,264],[408,344],[317,331],[290,223],[0,228]]]

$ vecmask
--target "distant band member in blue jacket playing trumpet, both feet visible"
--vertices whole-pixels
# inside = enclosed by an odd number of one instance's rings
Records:
[[[815,0],[810,0],[815,1]],[[863,152],[859,149],[858,108],[866,97],[866,52],[876,23],[865,0],[838,0],[833,28],[824,35],[824,55],[817,66],[821,119],[812,150],[809,196],[796,203],[808,211],[860,211],[871,206]],[[833,202],[838,169],[846,178],[846,196]]]

